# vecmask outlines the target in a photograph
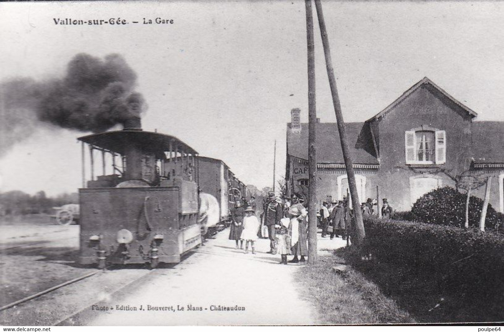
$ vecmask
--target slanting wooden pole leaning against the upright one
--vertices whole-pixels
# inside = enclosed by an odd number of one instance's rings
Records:
[[[334,78],[333,62],[331,60],[331,48],[329,47],[329,38],[327,36],[326,23],[324,21],[324,13],[322,12],[322,4],[320,0],[314,0],[317,8],[317,17],[319,18],[320,34],[322,36],[322,46],[324,47],[324,56],[326,58],[327,75],[329,77],[329,86],[333,97],[334,112],[336,113],[336,121],[338,124],[338,132],[340,134],[341,148],[343,150],[343,159],[345,160],[345,168],[348,177],[348,187],[350,187],[350,195],[352,197],[353,214],[355,216],[355,238],[352,242],[357,246],[362,243],[366,236],[364,232],[364,223],[362,222],[362,211],[360,209],[359,196],[357,195],[357,185],[355,184],[355,174],[353,172],[353,164],[350,158],[348,149],[348,140],[345,133],[345,123],[343,122],[343,114],[341,113],[340,99],[338,89],[336,87],[336,79]]]

